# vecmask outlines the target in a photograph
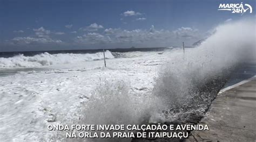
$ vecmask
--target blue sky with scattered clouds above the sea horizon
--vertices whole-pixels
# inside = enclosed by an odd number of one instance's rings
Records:
[[[226,20],[255,17],[220,3],[241,1],[0,0],[0,52],[191,45]]]

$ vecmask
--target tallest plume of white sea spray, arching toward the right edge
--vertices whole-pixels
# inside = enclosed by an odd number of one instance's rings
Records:
[[[166,121],[205,112],[232,69],[255,58],[254,30],[253,19],[220,25],[199,47],[172,55],[153,88],[165,107]]]

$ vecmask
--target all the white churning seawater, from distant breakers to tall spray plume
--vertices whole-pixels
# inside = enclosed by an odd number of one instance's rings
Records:
[[[254,27],[254,20],[220,25],[185,54],[180,48],[106,51],[106,67],[102,52],[6,55],[0,59],[0,139],[65,141],[63,132],[46,129],[49,124],[203,117],[226,79],[232,84],[255,75]]]

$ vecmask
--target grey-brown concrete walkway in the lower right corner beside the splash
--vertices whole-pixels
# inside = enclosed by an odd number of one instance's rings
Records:
[[[226,90],[212,102],[201,124],[186,141],[256,141],[256,79]]]

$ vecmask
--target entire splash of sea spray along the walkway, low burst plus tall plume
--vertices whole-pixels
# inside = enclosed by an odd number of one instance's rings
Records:
[[[254,51],[252,19],[220,25],[199,47],[186,49],[185,54],[171,54],[160,69],[152,93],[143,97],[131,94],[127,80],[100,83],[84,104],[84,116],[78,123],[143,124],[186,122],[196,115],[201,118],[232,69],[254,58]],[[92,141],[100,140],[127,139]]]

